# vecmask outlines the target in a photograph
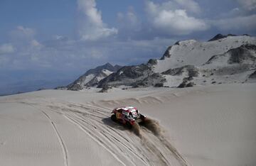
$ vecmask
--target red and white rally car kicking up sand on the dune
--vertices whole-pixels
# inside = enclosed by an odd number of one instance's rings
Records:
[[[132,127],[135,123],[144,122],[146,116],[140,114],[139,110],[133,106],[122,106],[112,111],[111,119]]]

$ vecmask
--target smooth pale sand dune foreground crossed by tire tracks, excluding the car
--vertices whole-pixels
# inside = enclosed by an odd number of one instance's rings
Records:
[[[256,84],[0,97],[0,165],[256,165]],[[111,121],[133,105],[149,121]]]

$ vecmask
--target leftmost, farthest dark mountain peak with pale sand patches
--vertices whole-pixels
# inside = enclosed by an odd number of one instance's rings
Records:
[[[57,89],[68,89],[73,91],[78,91],[85,89],[87,87],[94,87],[100,82],[101,79],[109,76],[113,72],[117,72],[121,66],[106,63],[105,65],[96,67],[95,69],[88,70],[85,74],[82,74],[75,82],[68,84],[67,87],[59,87]]]

